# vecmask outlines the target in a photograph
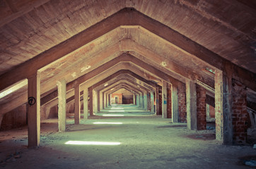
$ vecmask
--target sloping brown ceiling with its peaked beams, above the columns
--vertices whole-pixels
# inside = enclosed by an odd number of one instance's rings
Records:
[[[158,84],[166,80],[156,78],[160,73],[168,82],[200,80],[209,87],[212,72],[231,65],[255,90],[255,7],[253,0],[0,1],[0,91],[38,70],[47,96],[57,80],[111,75],[122,62]],[[0,108],[25,95],[22,83],[0,99]]]

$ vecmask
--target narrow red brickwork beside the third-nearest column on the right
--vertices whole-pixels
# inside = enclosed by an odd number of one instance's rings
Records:
[[[180,84],[178,87],[178,101],[179,101],[179,122],[187,123],[187,106],[186,106],[186,88],[185,84]]]

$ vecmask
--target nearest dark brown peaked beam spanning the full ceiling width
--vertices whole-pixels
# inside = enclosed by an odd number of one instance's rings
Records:
[[[175,44],[180,49],[184,49],[188,53],[194,55],[194,57],[200,58],[206,63],[211,63],[211,65],[214,65],[216,68],[219,68],[221,70],[225,70],[226,66],[224,65],[224,63],[232,64],[226,59],[221,58],[219,55],[214,54],[213,52],[204,48],[204,46],[193,42],[191,39],[188,39],[183,35],[180,35],[180,33],[170,29],[170,27],[167,27],[159,23],[158,21],[139,13],[138,11],[135,11],[134,9],[126,8],[122,11],[115,13],[114,15],[111,15],[107,19],[102,20],[100,23],[89,27],[78,35],[67,39],[65,42],[62,42],[61,44],[52,47],[51,49],[43,52],[42,54],[39,54],[38,56],[32,58],[29,62],[18,65],[15,69],[13,69],[13,71],[1,75],[0,80],[4,80],[5,82],[0,84],[0,90],[13,84],[15,80],[21,80],[28,77],[29,75],[32,75],[43,66],[57,60],[58,58],[61,58],[62,56],[65,56],[66,54],[69,54],[70,52],[83,46],[83,44],[87,44],[88,42],[93,41],[93,39],[104,35],[105,33],[115,29],[115,27],[118,27],[120,25],[141,25],[142,27],[146,28],[146,30],[153,32],[159,37],[168,40],[168,42]],[[28,68],[28,65],[30,66],[30,69],[24,71],[24,67]],[[18,72],[20,75],[17,75],[16,72]],[[249,71],[246,70],[238,71],[238,73],[240,72],[243,72],[243,74],[251,74]],[[15,77],[13,77],[13,75]],[[243,75],[238,76],[243,77]],[[251,84],[247,85],[251,86]]]

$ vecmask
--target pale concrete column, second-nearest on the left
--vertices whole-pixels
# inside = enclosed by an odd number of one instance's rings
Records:
[[[66,81],[57,82],[59,132],[66,131]]]

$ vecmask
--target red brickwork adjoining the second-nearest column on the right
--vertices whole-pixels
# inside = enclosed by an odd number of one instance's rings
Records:
[[[206,89],[197,85],[197,130],[206,130]]]

